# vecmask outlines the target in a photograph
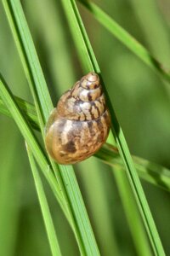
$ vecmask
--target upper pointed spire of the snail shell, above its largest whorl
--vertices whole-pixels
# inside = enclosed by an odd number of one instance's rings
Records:
[[[105,96],[96,73],[82,77],[58,102],[60,116],[87,121],[98,119],[105,112]]]

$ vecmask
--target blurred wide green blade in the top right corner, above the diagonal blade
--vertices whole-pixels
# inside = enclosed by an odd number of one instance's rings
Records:
[[[138,3],[130,0],[129,3],[150,52],[163,63],[164,67],[168,68],[170,65],[168,28],[166,29],[166,22],[162,19],[161,9],[159,10],[158,4],[153,0],[139,0]],[[150,11],[145,11],[146,9]],[[152,32],[151,37],[150,32]]]

